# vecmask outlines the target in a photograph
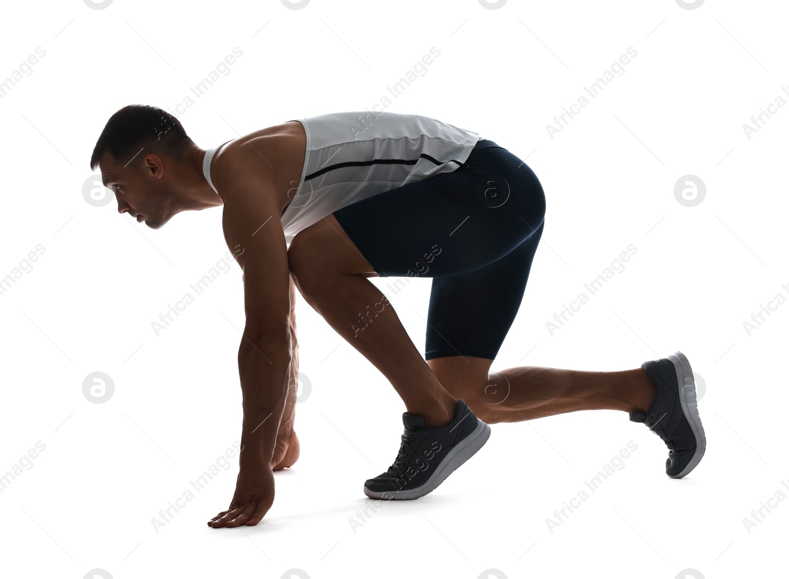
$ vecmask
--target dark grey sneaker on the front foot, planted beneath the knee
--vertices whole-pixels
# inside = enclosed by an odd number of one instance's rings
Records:
[[[448,425],[428,429],[424,418],[407,412],[402,413],[402,424],[406,432],[394,464],[365,481],[365,495],[371,499],[409,500],[427,495],[480,450],[491,432],[461,399]]]

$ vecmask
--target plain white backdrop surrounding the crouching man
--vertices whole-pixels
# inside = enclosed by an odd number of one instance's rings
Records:
[[[0,493],[2,575],[772,575],[789,501],[750,533],[743,519],[789,480],[789,305],[750,336],[743,322],[777,293],[789,298],[789,107],[750,139],[743,124],[789,98],[786,17],[783,2],[712,0],[4,6],[0,78],[36,47],[46,55],[0,99],[0,277],[37,244],[45,251],[0,295],[0,472],[46,447]],[[371,503],[362,484],[394,458],[404,407],[298,295],[312,392],[297,406],[301,458],[277,475],[274,507],[255,527],[208,528],[230,503],[234,458],[157,533],[151,519],[241,434],[241,270],[230,260],[155,336],[151,321],[226,254],[221,210],[156,231],[82,191],[112,113],[174,110],[236,46],[230,73],[178,114],[206,149],[292,118],[372,109],[440,50],[387,110],[495,140],[527,160],[547,196],[543,241],[492,370],[632,369],[683,351],[706,384],[696,470],[668,478],[664,444],[623,412],[493,425],[435,492],[387,503],[354,532],[349,521]],[[622,76],[551,138],[546,125],[630,46],[638,55]],[[693,207],[674,195],[689,174],[706,186]],[[630,243],[626,269],[551,336],[546,321]],[[430,280],[391,291],[395,280],[372,283],[424,351]],[[83,395],[94,372],[114,383],[106,403]],[[551,532],[546,519],[630,440],[638,450],[624,468]]]

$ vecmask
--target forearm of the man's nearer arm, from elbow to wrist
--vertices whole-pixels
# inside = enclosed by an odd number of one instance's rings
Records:
[[[244,422],[241,459],[271,463],[282,412],[288,396],[291,347],[279,343],[252,343],[242,338],[238,348],[238,372]]]

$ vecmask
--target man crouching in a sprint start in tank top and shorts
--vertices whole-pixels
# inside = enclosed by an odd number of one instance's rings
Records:
[[[619,372],[488,373],[522,301],[545,198],[528,165],[475,132],[413,114],[330,113],[203,150],[162,109],[126,106],[99,136],[99,166],[118,211],[151,228],[224,207],[244,273],[243,452],[230,508],[212,527],[256,525],[274,499],[273,470],[298,458],[295,288],[406,405],[397,458],[365,481],[371,498],[432,492],[488,440],[486,422],[575,410],[645,423],[669,447],[670,477],[704,454],[680,352]],[[432,277],[424,358],[367,279],[376,276]]]

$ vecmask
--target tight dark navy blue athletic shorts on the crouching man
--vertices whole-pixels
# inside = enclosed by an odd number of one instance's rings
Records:
[[[425,360],[495,358],[543,232],[545,195],[524,161],[482,139],[458,169],[333,214],[380,277],[432,277]]]

